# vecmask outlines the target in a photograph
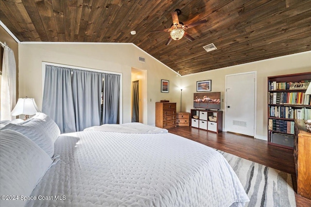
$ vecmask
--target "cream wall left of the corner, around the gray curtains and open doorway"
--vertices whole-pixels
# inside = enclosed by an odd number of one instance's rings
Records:
[[[138,62],[138,56],[146,63]],[[181,77],[133,44],[19,44],[19,97],[34,97],[42,108],[42,62],[66,64],[123,74],[123,123],[131,122],[131,69],[147,70],[147,123],[155,124],[155,102],[179,103]],[[170,80],[170,93],[160,93],[161,79]],[[151,101],[150,101],[151,100]]]

